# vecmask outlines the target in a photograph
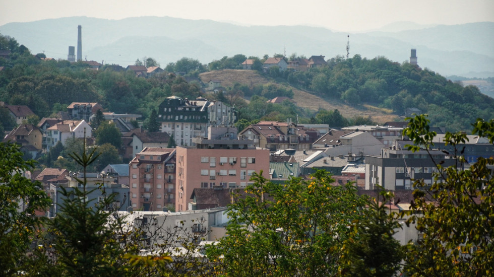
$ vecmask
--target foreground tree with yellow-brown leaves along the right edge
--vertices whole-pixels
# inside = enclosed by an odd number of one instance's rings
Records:
[[[404,130],[415,145],[408,149],[416,151],[416,145],[434,146],[435,132],[429,130],[425,115],[409,118]],[[474,133],[489,135],[491,122],[481,119],[474,123]],[[412,135],[415,133],[415,135]],[[465,143],[463,133],[447,133],[445,142],[456,146]],[[427,148],[428,149],[428,148]],[[456,151],[456,150],[455,150]],[[478,158],[466,164],[462,153],[454,153],[457,166],[443,168],[430,189],[423,180],[416,180],[419,189],[413,193],[414,202],[407,225],[415,224],[420,236],[406,249],[405,270],[411,276],[486,276],[494,272],[494,160]],[[466,168],[465,168],[466,167]],[[465,169],[463,169],[465,168]],[[439,181],[441,179],[441,181]],[[431,202],[429,198],[435,199]]]

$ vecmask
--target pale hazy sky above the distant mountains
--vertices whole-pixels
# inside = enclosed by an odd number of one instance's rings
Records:
[[[170,16],[365,31],[397,21],[494,22],[494,0],[0,0],[0,26],[48,18]]]

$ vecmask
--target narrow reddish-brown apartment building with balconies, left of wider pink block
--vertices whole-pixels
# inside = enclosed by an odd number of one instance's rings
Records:
[[[175,206],[175,149],[144,148],[129,163],[129,179],[134,210]]]

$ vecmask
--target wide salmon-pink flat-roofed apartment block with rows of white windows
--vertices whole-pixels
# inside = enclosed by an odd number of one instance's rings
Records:
[[[195,188],[245,187],[254,172],[269,177],[269,150],[251,140],[193,138],[195,147],[176,149],[175,210],[192,210]]]

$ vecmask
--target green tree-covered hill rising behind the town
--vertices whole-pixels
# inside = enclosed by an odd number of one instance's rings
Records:
[[[329,59],[326,66],[305,72],[280,72],[276,68],[267,73],[255,71],[261,77],[259,80],[264,81],[232,80],[223,93],[205,95],[201,86],[209,80],[200,80],[200,73],[209,68],[238,69],[241,61],[235,59],[245,60],[246,56],[224,57],[209,64],[182,58],[164,67],[165,73],[145,79],[137,78],[134,72],[116,72],[109,65],[96,71],[83,62],[42,60],[39,57],[43,54],[35,57],[15,39],[1,35],[0,49],[12,51],[9,58],[0,58],[0,66],[4,66],[0,71],[0,101],[27,105],[39,118],[66,111],[72,102],[99,102],[107,111],[142,114],[146,119],[172,95],[205,96],[234,105],[240,119],[239,128],[261,119],[285,121],[297,117],[301,123],[324,123],[331,127],[384,123],[374,114],[399,120],[404,109],[411,107],[428,113],[433,125],[446,126],[453,131],[471,129],[470,123],[477,117],[494,117],[494,100],[481,94],[477,87],[463,87],[429,70],[384,57],[365,59],[355,55],[344,59],[337,56]],[[259,59],[262,61],[263,58]],[[156,61],[151,58],[146,60],[149,62]],[[173,72],[186,76],[169,74]],[[266,103],[276,96],[293,98],[298,92],[313,94],[319,97],[318,101],[314,101],[312,107],[310,103],[298,107],[290,101]],[[329,105],[321,104],[322,101]],[[345,111],[336,110],[336,106]],[[349,109],[359,112],[349,113]],[[373,113],[362,112],[366,110]],[[7,117],[0,116],[1,126],[12,128],[12,122],[6,120]],[[37,123],[35,118],[31,121]]]

